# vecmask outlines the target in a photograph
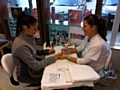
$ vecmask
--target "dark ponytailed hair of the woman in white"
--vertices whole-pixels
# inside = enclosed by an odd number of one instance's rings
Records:
[[[96,25],[99,35],[105,40],[107,36],[107,19],[101,18],[98,15],[91,14],[84,18],[90,26]]]

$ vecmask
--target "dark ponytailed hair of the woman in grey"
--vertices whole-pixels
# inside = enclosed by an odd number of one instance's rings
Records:
[[[34,25],[36,22],[37,20],[32,15],[26,15],[24,12],[22,12],[17,19],[16,36],[18,36],[20,32],[22,32],[23,25],[30,28],[30,26]]]

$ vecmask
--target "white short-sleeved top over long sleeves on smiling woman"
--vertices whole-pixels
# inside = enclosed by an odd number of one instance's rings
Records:
[[[76,49],[82,52],[82,58],[77,59],[78,64],[88,64],[95,70],[100,70],[104,67],[105,61],[110,53],[110,47],[102,37],[97,34],[88,42],[88,37]]]

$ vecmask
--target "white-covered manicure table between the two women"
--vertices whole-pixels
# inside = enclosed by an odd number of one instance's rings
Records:
[[[63,46],[55,47],[56,53],[60,52],[62,47]],[[44,49],[45,49],[45,47],[44,47]],[[71,56],[77,57],[76,54],[71,54]],[[45,68],[43,77],[42,77],[42,81],[41,81],[42,90],[70,88],[70,87],[77,87],[77,86],[92,86],[92,87],[94,86],[94,83],[93,83],[94,80],[89,80],[89,81],[84,80],[84,81],[79,81],[76,83],[72,82],[71,75],[74,75],[74,74],[70,74],[70,71],[71,71],[70,68],[72,68],[72,66],[82,67],[82,68],[80,68],[81,70],[84,70],[85,69],[84,67],[87,67],[87,69],[91,69],[91,67],[89,67],[87,65],[84,65],[84,66],[78,65],[78,64],[70,62],[66,59],[57,60],[55,63],[53,63]],[[60,68],[60,67],[64,67],[64,68]],[[52,82],[52,83],[49,82],[48,79],[50,78],[51,73],[56,74],[56,75],[60,74],[59,81],[57,80],[58,82]],[[77,72],[77,73],[81,74],[81,72]],[[82,76],[84,76],[85,73],[86,72],[84,72]],[[90,74],[92,76],[94,76],[97,80],[100,78],[99,75],[94,70],[92,70],[92,72]],[[75,75],[77,75],[77,74],[75,74]],[[66,76],[67,76],[67,79],[66,79]],[[82,80],[82,78],[81,78],[81,80]]]

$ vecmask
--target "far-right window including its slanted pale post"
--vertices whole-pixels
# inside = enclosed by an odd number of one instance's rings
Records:
[[[112,46],[120,46],[120,28],[119,28],[119,12],[117,8],[120,6],[118,0],[106,0],[102,7],[102,16],[108,19],[108,42]],[[120,9],[120,8],[119,8]],[[115,19],[116,17],[116,19]]]

